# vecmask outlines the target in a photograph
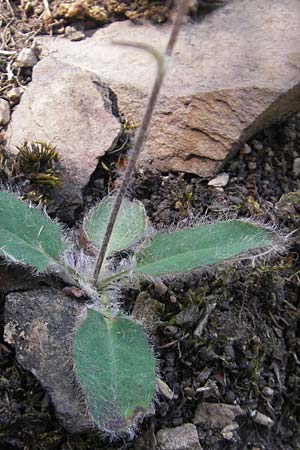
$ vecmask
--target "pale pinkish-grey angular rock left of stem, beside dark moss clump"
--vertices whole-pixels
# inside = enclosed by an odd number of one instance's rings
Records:
[[[97,76],[46,58],[34,68],[6,138],[13,153],[25,140],[55,145],[65,167],[65,184],[76,197],[97,158],[113,147],[121,132],[112,110],[110,91]]]

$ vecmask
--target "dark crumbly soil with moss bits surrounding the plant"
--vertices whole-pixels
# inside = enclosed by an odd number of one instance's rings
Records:
[[[32,27],[28,17],[21,22]],[[145,282],[139,291],[124,288],[129,312],[140,291],[156,300],[159,325],[153,340],[161,378],[174,392],[172,400],[160,395],[155,415],[141,424],[132,441],[112,443],[99,433],[71,435],[59,425],[47,394],[16,364],[13,348],[3,340],[3,296],[0,449],[155,450],[157,431],[192,422],[203,401],[236,404],[247,412],[237,419],[239,429],[229,440],[218,429],[198,425],[205,450],[300,449],[300,202],[285,195],[300,190],[299,157],[300,113],[248,142],[223,168],[230,176],[223,189],[192,175],[150,169],[135,174],[130,194],[143,202],[156,227],[203,217],[252,217],[275,224],[282,233],[295,233],[286,252],[268,260],[226,264],[163,285]],[[112,173],[116,161],[106,160]],[[92,178],[87,206],[105,195],[113,178]],[[216,306],[196,339],[194,330],[212,303]],[[274,425],[255,422],[256,411]]]

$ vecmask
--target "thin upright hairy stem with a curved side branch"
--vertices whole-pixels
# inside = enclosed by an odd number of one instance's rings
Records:
[[[179,0],[177,16],[176,16],[176,19],[175,19],[175,22],[174,22],[174,25],[173,25],[173,28],[171,31],[171,35],[170,35],[166,50],[165,50],[166,56],[170,56],[172,54],[180,27],[182,24],[182,19],[184,17],[185,8],[186,8],[186,0]],[[156,74],[154,86],[153,86],[152,91],[149,96],[149,100],[148,100],[148,103],[146,106],[144,116],[142,119],[141,127],[139,128],[139,130],[137,132],[137,135],[136,135],[136,138],[134,141],[134,146],[133,146],[132,152],[130,153],[130,156],[129,156],[127,168],[126,168],[125,174],[123,176],[123,180],[122,180],[120,189],[116,195],[115,203],[114,203],[114,206],[112,208],[112,211],[111,211],[108,223],[107,223],[105,235],[103,238],[103,243],[102,243],[101,249],[99,251],[95,270],[94,270],[94,276],[93,276],[94,286],[96,286],[96,284],[97,284],[99,273],[100,273],[102,265],[103,265],[103,261],[105,258],[109,240],[110,240],[110,237],[111,237],[111,234],[113,231],[113,227],[114,227],[122,200],[124,198],[124,195],[126,194],[126,190],[130,183],[130,180],[131,180],[132,174],[134,172],[138,157],[142,151],[143,144],[144,144],[146,136],[147,136],[149,124],[151,122],[153,111],[154,111],[154,108],[155,108],[155,105],[157,102],[158,94],[159,94],[159,91],[160,91],[160,88],[162,86],[162,82],[163,82],[163,79],[165,76],[165,58],[164,58],[165,55],[161,55],[159,52],[157,52],[151,46],[141,44],[141,43],[127,42],[127,41],[114,41],[114,43],[119,44],[119,45],[126,45],[126,46],[131,46],[131,47],[142,48],[142,49],[150,52],[154,56],[154,58],[156,59],[156,62],[157,62],[157,74]]]

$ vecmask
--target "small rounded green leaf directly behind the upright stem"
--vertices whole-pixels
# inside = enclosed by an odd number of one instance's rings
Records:
[[[112,197],[106,198],[92,210],[84,222],[83,228],[87,238],[97,248],[101,247],[113,203]],[[144,233],[144,229],[145,210],[142,203],[124,199],[110,238],[108,255],[125,250],[137,242]]]

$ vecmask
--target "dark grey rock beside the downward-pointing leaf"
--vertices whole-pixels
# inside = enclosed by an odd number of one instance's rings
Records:
[[[5,341],[14,346],[18,363],[40,381],[70,433],[92,428],[71,360],[71,336],[83,309],[53,288],[13,293],[5,302]]]

